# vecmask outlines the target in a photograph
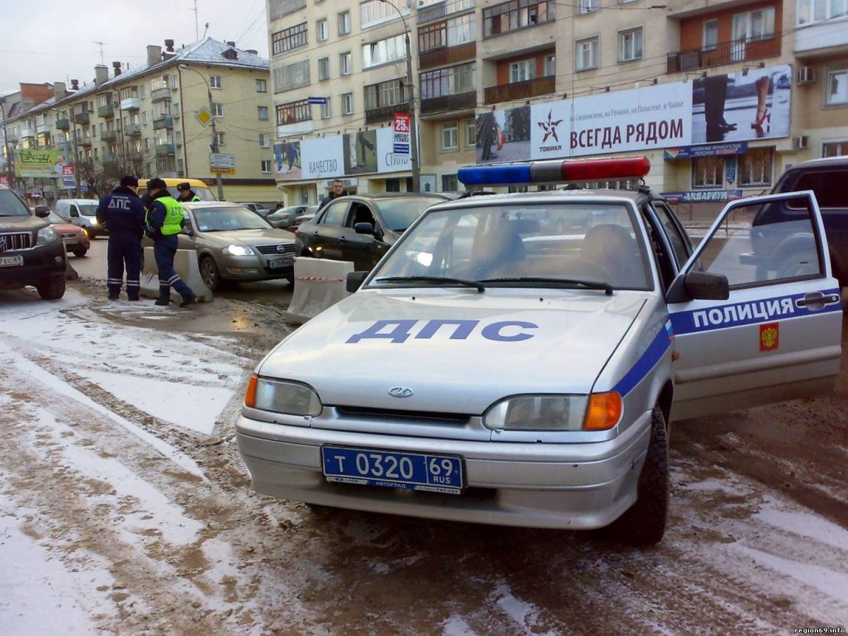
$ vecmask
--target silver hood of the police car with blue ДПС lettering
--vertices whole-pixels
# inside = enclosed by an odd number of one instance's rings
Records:
[[[300,327],[258,372],[305,382],[323,404],[482,414],[507,395],[589,393],[644,302],[634,292],[369,290]],[[394,398],[395,387],[414,393]]]

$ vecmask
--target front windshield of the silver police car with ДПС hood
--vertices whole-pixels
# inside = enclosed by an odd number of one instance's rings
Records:
[[[565,281],[650,289],[644,254],[624,204],[446,209],[428,213],[405,234],[370,284],[410,285],[380,279],[432,276],[486,287],[555,287]]]

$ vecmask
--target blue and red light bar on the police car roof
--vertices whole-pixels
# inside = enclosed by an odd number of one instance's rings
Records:
[[[466,186],[506,186],[642,178],[649,172],[647,157],[545,159],[524,164],[472,165],[460,168],[457,179]]]

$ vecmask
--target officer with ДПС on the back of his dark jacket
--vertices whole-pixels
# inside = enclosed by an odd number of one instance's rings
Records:
[[[126,297],[138,300],[142,276],[142,237],[144,236],[144,204],[138,198],[138,179],[131,175],[120,178],[120,186],[100,199],[98,223],[109,230],[106,255],[106,287],[109,300],[117,300],[124,282]]]

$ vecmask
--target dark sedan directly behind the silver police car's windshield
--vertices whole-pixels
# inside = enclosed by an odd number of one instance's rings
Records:
[[[298,256],[350,260],[357,271],[370,270],[438,194],[354,194],[333,199],[314,219],[301,223]]]

